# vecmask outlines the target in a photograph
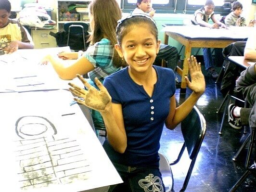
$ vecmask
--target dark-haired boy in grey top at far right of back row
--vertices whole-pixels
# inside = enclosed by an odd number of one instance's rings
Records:
[[[245,18],[241,17],[243,12],[243,5],[239,1],[233,2],[232,12],[229,13],[225,18],[226,26],[246,26]],[[247,26],[254,26],[256,20],[252,19]]]

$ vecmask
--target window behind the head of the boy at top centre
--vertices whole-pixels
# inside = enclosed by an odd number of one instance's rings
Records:
[[[124,9],[135,9],[137,0],[124,0]],[[151,0],[153,8],[156,10],[173,10],[175,0]]]

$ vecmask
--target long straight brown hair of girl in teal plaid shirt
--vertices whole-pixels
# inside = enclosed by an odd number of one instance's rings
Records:
[[[93,15],[94,29],[89,41],[94,44],[106,36],[113,47],[117,43],[115,28],[122,17],[122,11],[116,0],[93,0],[90,3],[90,14]],[[126,66],[114,48],[113,65]]]

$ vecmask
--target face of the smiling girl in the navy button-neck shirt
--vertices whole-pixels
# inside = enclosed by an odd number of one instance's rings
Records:
[[[160,40],[156,41],[148,24],[130,26],[129,32],[122,38],[121,46],[115,48],[120,57],[124,57],[130,70],[145,72],[151,70]]]

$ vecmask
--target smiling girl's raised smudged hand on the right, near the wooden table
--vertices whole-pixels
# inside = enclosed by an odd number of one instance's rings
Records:
[[[186,83],[195,93],[203,94],[205,92],[205,76],[201,70],[201,63],[198,64],[193,55],[188,59],[188,63],[191,81],[187,76],[185,76]]]

